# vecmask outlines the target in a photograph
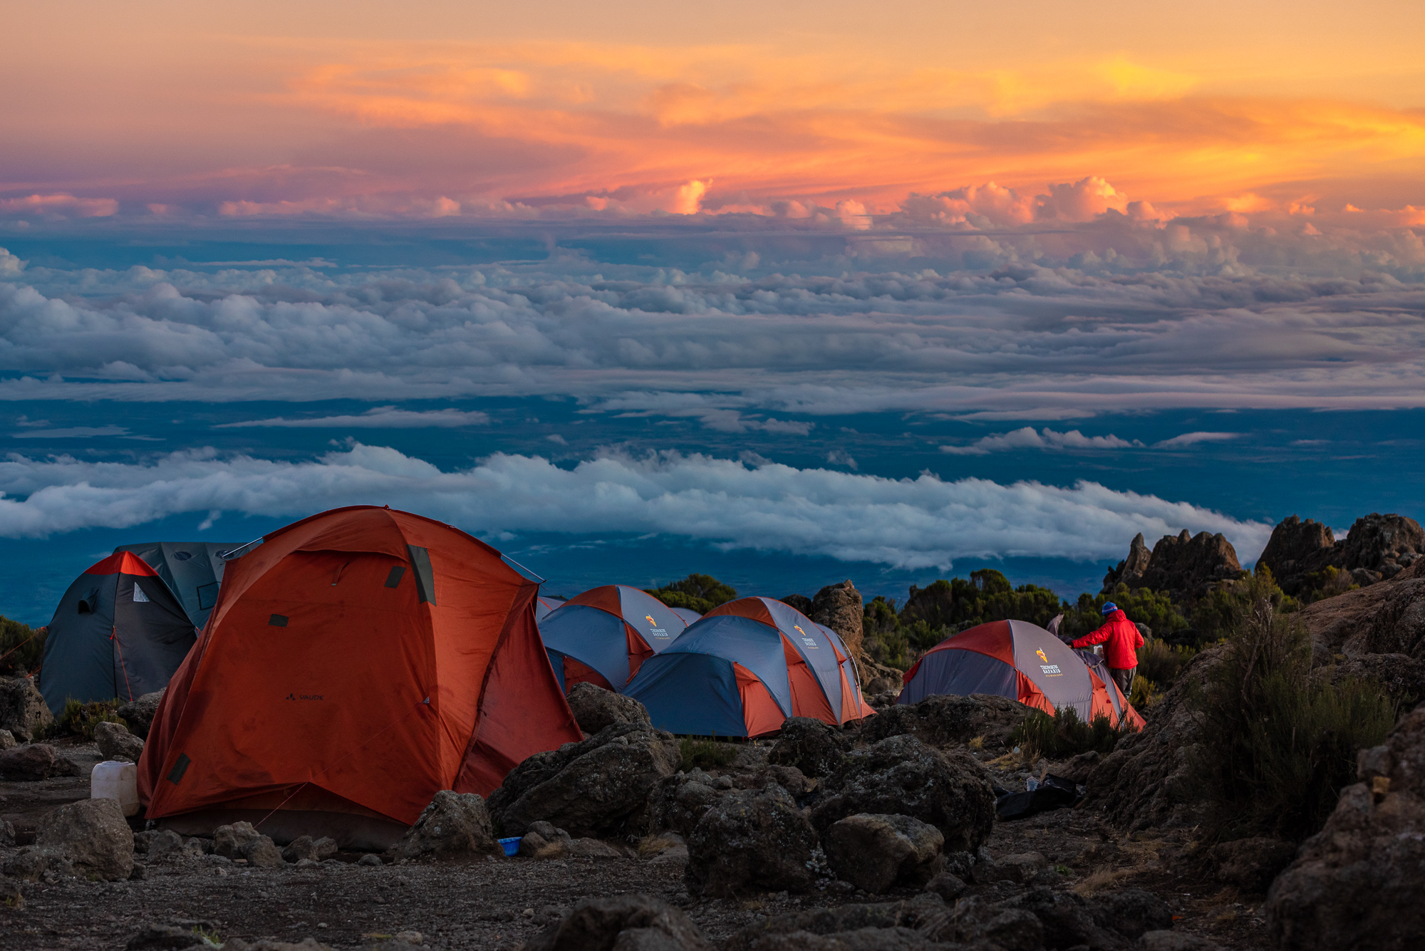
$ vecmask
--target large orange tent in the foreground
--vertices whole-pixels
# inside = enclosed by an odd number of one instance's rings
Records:
[[[389,508],[264,537],[228,562],[154,718],[148,817],[380,847],[442,789],[487,796],[527,756],[581,736],[536,592],[494,548]]]

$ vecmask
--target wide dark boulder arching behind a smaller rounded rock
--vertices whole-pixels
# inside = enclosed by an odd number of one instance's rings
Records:
[[[812,824],[826,830],[856,813],[912,816],[945,836],[949,851],[975,851],[995,821],[985,767],[965,753],[939,753],[913,736],[892,736],[846,756],[824,780]]]

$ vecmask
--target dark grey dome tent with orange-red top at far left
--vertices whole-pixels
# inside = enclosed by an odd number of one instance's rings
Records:
[[[158,572],[118,552],[74,579],[50,621],[40,693],[67,700],[133,700],[168,686],[197,631]]]

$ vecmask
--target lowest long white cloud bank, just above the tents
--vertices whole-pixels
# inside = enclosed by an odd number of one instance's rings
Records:
[[[9,538],[120,528],[181,513],[298,517],[372,503],[486,537],[656,532],[943,571],[956,558],[1116,558],[1140,531],[1153,538],[1183,528],[1221,531],[1251,559],[1271,534],[1264,522],[1087,481],[898,480],[677,453],[604,454],[573,468],[497,454],[455,471],[359,443],[309,461],[224,457],[211,448],[148,463],[10,454],[0,461],[0,535]]]

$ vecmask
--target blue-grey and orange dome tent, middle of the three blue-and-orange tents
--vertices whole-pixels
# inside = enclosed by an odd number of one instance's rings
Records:
[[[695,736],[764,736],[789,716],[841,726],[874,713],[841,638],[772,598],[714,608],[624,692],[654,726]]]

